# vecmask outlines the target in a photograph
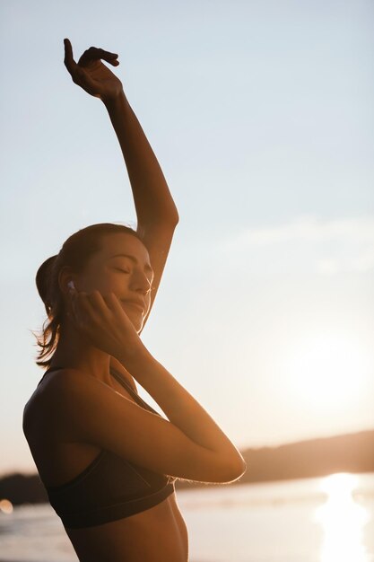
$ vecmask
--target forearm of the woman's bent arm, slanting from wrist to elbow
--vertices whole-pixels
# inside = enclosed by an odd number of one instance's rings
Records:
[[[222,464],[241,474],[246,463],[238,449],[197,400],[149,352],[130,359],[117,357],[159,404],[170,422],[194,443],[217,454]]]

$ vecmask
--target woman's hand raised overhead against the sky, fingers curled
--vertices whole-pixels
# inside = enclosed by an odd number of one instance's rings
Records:
[[[65,66],[72,76],[73,82],[81,86],[83,90],[90,93],[101,101],[111,101],[123,92],[122,83],[101,62],[101,58],[112,66],[118,66],[118,55],[109,53],[102,48],[90,47],[84,51],[78,64],[74,61],[72,44],[68,39],[65,44]]]

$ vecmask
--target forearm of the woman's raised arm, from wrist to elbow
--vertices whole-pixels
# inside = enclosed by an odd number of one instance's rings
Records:
[[[105,106],[126,162],[138,224],[177,224],[178,210],[161,166],[125,93]]]

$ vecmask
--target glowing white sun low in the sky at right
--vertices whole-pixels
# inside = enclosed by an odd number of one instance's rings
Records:
[[[359,341],[319,335],[300,339],[286,360],[290,391],[311,406],[343,408],[363,396],[370,356]]]

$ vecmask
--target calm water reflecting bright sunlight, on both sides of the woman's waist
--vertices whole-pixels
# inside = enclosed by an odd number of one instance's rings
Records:
[[[374,562],[374,473],[178,490],[190,562]],[[0,511],[0,562],[77,562],[49,505]]]

